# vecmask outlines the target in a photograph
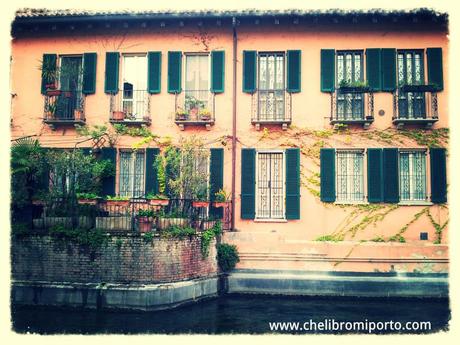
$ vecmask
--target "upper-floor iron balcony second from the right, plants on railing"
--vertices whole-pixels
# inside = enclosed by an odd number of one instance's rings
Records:
[[[374,94],[365,87],[340,87],[331,93],[330,123],[369,128],[374,121]]]

